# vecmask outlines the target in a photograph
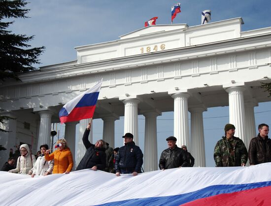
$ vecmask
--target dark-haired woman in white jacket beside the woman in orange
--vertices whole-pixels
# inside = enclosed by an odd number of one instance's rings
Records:
[[[54,160],[52,161],[45,160],[44,153],[48,149],[48,145],[43,144],[39,148],[41,154],[37,157],[34,167],[28,172],[28,174],[31,174],[32,177],[34,177],[35,175],[46,176],[48,174],[51,174],[54,167]]]

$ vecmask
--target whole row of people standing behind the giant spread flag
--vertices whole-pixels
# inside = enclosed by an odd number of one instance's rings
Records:
[[[214,148],[216,167],[245,166],[248,159],[250,165],[271,162],[271,140],[268,137],[267,124],[258,126],[259,134],[251,139],[248,151],[243,141],[234,136],[235,129],[233,124],[225,125],[225,136],[216,143]],[[88,124],[82,138],[86,153],[76,171],[101,170],[115,173],[116,176],[128,173],[136,176],[142,172],[143,153],[139,146],[135,145],[133,134],[126,133],[123,136],[124,146],[113,149],[102,139],[92,144],[88,139],[90,130],[91,123]],[[195,159],[188,152],[186,145],[178,147],[177,139],[173,136],[166,138],[166,141],[168,148],[162,152],[159,160],[161,170],[194,166]],[[20,154],[18,155],[17,150],[13,156],[11,155],[1,171],[29,174],[32,177],[52,173],[68,174],[73,168],[73,160],[67,141],[59,139],[56,148],[51,153],[48,145],[43,144],[35,157],[31,154],[28,144],[22,144],[19,148]],[[12,151],[10,153],[12,154]]]

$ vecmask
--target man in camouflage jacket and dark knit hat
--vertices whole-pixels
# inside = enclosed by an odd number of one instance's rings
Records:
[[[241,139],[234,137],[235,126],[226,124],[224,130],[225,137],[222,137],[214,148],[216,167],[245,166],[247,162],[247,149]]]

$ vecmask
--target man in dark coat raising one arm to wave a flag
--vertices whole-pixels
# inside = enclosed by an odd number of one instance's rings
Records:
[[[87,129],[83,135],[83,143],[87,149],[86,154],[79,163],[77,170],[91,169],[91,170],[104,170],[106,167],[106,142],[102,139],[98,140],[95,144],[90,143],[88,136],[90,133],[91,123],[88,124]]]

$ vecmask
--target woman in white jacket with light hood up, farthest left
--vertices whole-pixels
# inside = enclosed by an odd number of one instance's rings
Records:
[[[33,168],[36,158],[30,153],[28,144],[22,144],[20,146],[21,156],[18,157],[16,169],[10,170],[8,172],[28,174],[28,172]]]

